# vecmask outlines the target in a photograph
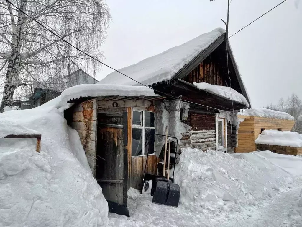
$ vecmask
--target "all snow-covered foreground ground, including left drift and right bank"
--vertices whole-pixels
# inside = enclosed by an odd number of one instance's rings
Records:
[[[0,139],[0,226],[302,226],[302,156],[268,151],[185,149],[175,169],[178,208],[130,189],[131,217],[108,214],[66,107],[57,98],[0,114],[5,134],[42,134],[40,154],[33,139]]]

